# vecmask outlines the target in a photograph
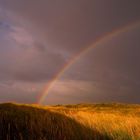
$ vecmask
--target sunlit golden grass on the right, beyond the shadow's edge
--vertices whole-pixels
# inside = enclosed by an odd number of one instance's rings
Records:
[[[99,105],[99,106],[98,106]],[[140,106],[124,104],[48,107],[112,139],[140,140]]]

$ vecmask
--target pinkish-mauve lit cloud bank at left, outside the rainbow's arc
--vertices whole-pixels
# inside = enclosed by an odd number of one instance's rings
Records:
[[[51,79],[65,62],[63,56],[38,43],[23,27],[8,25],[7,28],[7,25],[7,22],[1,22],[1,80],[34,82]]]

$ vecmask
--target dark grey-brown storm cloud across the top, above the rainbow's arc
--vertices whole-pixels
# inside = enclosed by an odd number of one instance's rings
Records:
[[[138,0],[1,0],[1,3],[36,25],[48,44],[72,52],[140,16]]]

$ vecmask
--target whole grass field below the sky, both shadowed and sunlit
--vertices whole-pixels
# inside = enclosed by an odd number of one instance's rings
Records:
[[[0,140],[140,140],[140,105],[0,104]]]

